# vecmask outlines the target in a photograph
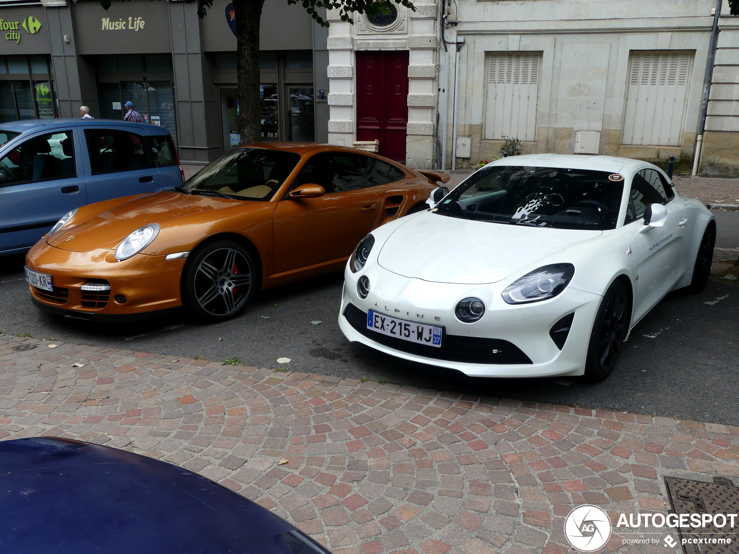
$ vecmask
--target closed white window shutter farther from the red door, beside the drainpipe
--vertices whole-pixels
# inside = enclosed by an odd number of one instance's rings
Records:
[[[631,52],[622,144],[680,146],[693,52]]]

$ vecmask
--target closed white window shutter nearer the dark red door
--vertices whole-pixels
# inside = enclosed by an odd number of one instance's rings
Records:
[[[536,140],[541,52],[491,52],[485,138]]]

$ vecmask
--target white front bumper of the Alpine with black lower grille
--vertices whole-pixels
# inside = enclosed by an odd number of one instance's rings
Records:
[[[370,283],[364,299],[356,287],[363,275]],[[500,296],[507,285],[508,280],[474,285],[429,282],[399,276],[378,264],[358,273],[347,269],[338,324],[350,341],[404,360],[456,369],[470,377],[582,375],[602,297],[568,287],[551,300],[511,305]],[[485,315],[474,324],[462,323],[454,315],[457,303],[469,296],[486,305]],[[368,310],[444,326],[445,344],[441,348],[422,346],[376,333],[367,329]],[[568,315],[573,318],[560,350],[551,332]]]

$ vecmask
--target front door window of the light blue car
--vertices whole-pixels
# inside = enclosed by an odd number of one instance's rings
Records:
[[[0,186],[76,177],[72,131],[42,134],[19,144],[0,160]]]

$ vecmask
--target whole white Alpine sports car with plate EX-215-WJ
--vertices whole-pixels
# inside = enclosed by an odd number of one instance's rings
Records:
[[[358,244],[338,318],[350,341],[474,377],[594,382],[664,295],[709,278],[714,216],[650,163],[508,157],[429,205]]]

